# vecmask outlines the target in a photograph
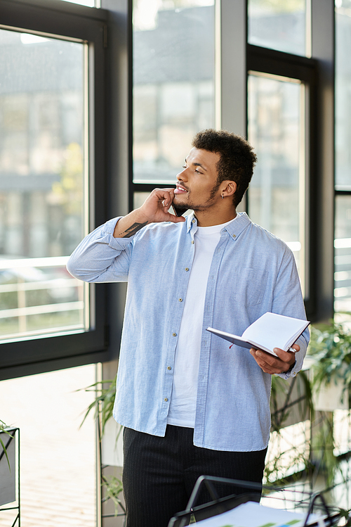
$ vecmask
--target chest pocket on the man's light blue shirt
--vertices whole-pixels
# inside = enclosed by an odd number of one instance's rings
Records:
[[[262,302],[267,287],[268,273],[263,269],[241,269],[235,280],[234,297],[241,305],[257,305]]]

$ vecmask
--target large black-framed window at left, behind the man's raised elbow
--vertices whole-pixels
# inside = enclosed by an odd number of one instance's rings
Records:
[[[77,16],[77,6],[62,2],[53,16],[51,8],[1,6],[4,377],[47,360],[93,361],[106,349],[103,288],[73,279],[65,267],[84,235],[105,220],[106,13],[79,6]]]

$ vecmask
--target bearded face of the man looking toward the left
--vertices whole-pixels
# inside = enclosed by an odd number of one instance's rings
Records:
[[[220,200],[217,167],[220,154],[192,148],[185,159],[183,172],[177,175],[173,203],[179,208],[204,210]]]

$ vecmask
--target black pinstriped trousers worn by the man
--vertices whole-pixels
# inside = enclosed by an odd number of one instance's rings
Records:
[[[167,426],[166,436],[124,428],[123,486],[126,527],[167,527],[183,511],[197,478],[203,474],[261,483],[267,449],[222,452],[195,447],[192,428]],[[220,497],[248,492],[216,485]],[[207,491],[199,502],[210,500]]]

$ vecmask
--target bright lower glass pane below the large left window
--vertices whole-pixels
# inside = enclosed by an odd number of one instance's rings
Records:
[[[93,412],[79,428],[95,397],[81,388],[95,383],[95,369],[88,364],[0,383],[1,419],[20,428],[25,527],[96,526]],[[12,526],[14,518],[14,511],[1,511],[0,527]]]

